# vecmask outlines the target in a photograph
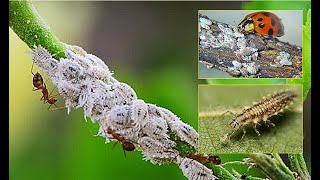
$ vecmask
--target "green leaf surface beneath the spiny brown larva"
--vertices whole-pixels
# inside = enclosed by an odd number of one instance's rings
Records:
[[[228,126],[233,117],[223,115],[227,111],[237,114],[245,106],[251,106],[253,101],[260,101],[262,96],[283,89],[294,90],[298,100],[291,110],[270,120],[275,127],[264,124],[258,126],[260,136],[253,128],[246,128],[243,139],[242,131],[225,139],[233,129]],[[272,152],[302,152],[303,121],[301,86],[288,85],[205,85],[199,87],[199,152],[200,153],[272,153]],[[288,138],[290,137],[290,138]]]

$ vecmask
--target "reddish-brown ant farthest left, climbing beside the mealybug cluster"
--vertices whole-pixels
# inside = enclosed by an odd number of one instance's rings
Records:
[[[44,103],[48,103],[50,104],[50,106],[48,107],[48,109],[50,109],[50,107],[52,105],[56,106],[56,109],[62,109],[64,107],[58,107],[55,103],[57,102],[57,99],[55,98],[55,96],[50,96],[51,93],[49,94],[48,93],[48,89],[46,87],[46,84],[43,82],[43,78],[41,76],[41,74],[39,72],[37,73],[33,73],[32,70],[33,70],[33,65],[34,65],[34,62],[32,63],[32,67],[31,67],[31,73],[33,75],[33,79],[32,79],[32,83],[33,83],[33,91],[37,91],[37,90],[41,90],[42,92],[42,97],[40,100],[43,100]]]

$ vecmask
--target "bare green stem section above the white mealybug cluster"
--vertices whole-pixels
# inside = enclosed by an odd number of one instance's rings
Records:
[[[31,49],[41,45],[56,59],[65,57],[63,43],[38,15],[30,1],[9,1],[9,26]]]

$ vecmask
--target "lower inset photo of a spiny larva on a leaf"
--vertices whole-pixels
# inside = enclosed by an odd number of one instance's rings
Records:
[[[199,85],[200,153],[302,153],[302,85]]]

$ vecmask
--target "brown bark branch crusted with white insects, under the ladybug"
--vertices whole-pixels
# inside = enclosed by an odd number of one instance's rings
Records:
[[[302,77],[302,48],[199,15],[199,61],[233,77]]]

